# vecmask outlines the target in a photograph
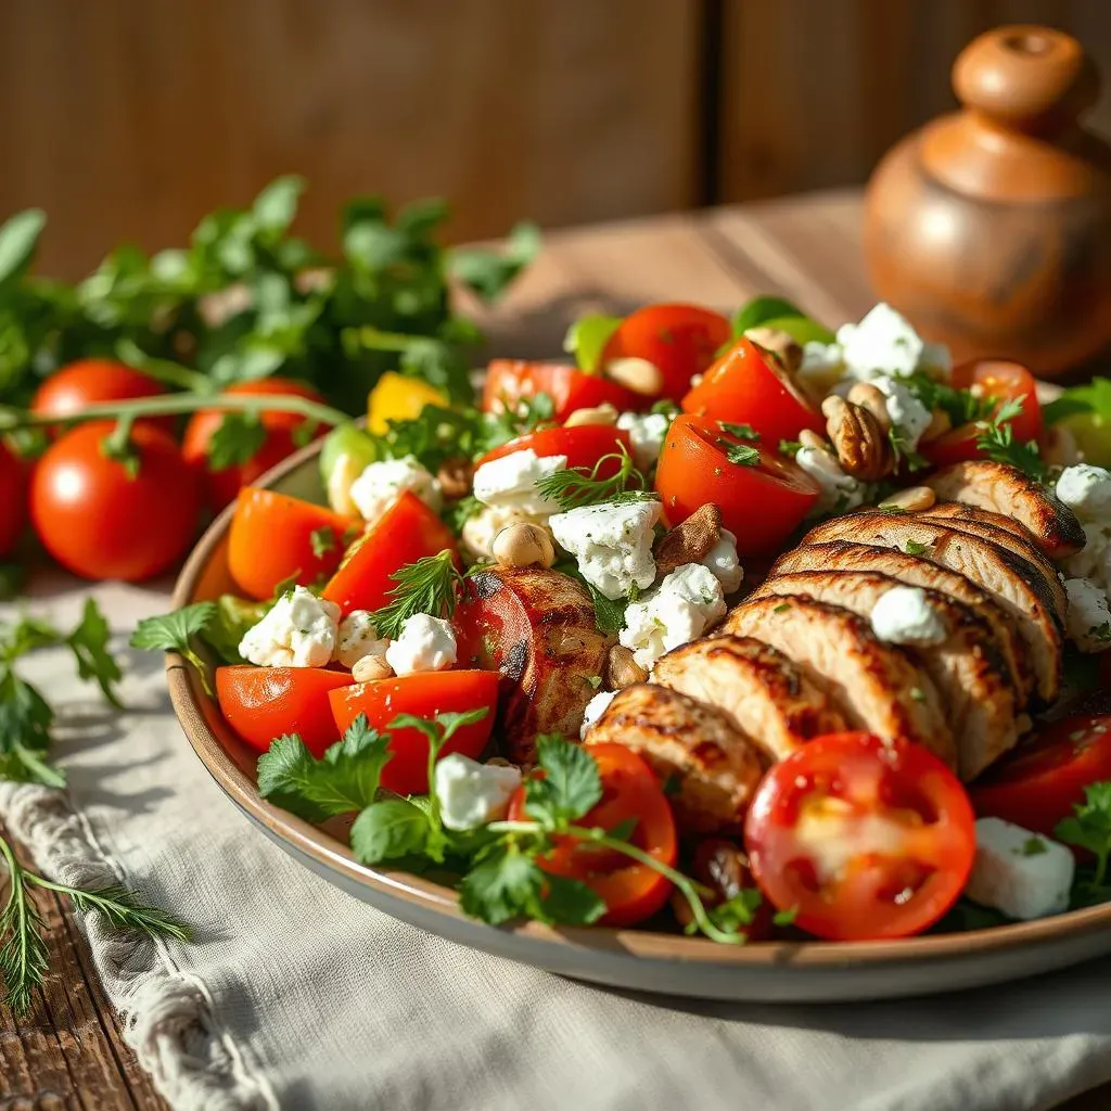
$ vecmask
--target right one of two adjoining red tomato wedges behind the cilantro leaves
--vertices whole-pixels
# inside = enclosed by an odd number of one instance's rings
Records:
[[[382,787],[398,794],[423,794],[428,791],[428,738],[419,729],[390,729],[390,722],[402,713],[430,720],[439,713],[484,709],[484,718],[463,725],[440,751],[441,759],[451,752],[461,752],[477,760],[493,729],[498,672],[426,671],[354,683],[332,691],[328,699],[341,733],[360,713],[364,713],[379,732],[390,733],[389,748],[393,755],[382,769]]]

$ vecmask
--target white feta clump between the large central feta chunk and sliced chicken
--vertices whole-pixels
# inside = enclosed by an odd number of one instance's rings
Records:
[[[664,652],[701,637],[725,615],[725,608],[713,572],[701,563],[684,563],[625,609],[618,640],[642,668],[651,668]]]

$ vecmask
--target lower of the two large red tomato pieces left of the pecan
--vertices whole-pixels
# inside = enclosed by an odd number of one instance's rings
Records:
[[[729,461],[731,448],[759,452],[752,466]],[[670,524],[701,506],[721,509],[721,523],[737,536],[742,556],[777,551],[818,500],[817,483],[793,462],[759,444],[744,443],[698,417],[671,422],[655,472]]]

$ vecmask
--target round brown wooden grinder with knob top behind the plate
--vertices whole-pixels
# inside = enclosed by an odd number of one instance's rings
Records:
[[[1061,31],[1001,27],[952,76],[963,110],[869,182],[875,291],[958,362],[1061,374],[1111,344],[1111,148],[1078,122],[1099,74]]]

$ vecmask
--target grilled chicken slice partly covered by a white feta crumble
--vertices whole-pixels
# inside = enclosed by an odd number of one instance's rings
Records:
[[[767,579],[753,598],[804,594],[870,618],[897,579],[877,571],[800,571]],[[925,589],[925,588],[923,588]],[[951,713],[961,779],[974,779],[1019,739],[1015,694],[987,623],[948,594],[925,589],[948,633],[940,644],[909,645]]]

